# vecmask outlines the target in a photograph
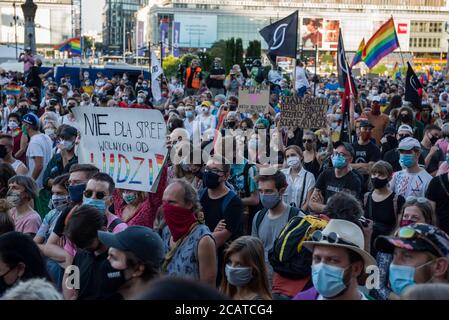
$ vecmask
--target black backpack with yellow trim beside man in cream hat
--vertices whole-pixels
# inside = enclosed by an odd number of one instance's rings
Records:
[[[316,230],[323,230],[327,221],[311,215],[294,216],[282,229],[268,253],[273,270],[289,279],[311,275],[312,252],[303,248]]]

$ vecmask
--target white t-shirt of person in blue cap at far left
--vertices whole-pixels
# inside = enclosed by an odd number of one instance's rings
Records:
[[[43,187],[42,178],[44,176],[45,168],[47,167],[48,162],[51,158],[51,149],[53,147],[53,143],[51,139],[43,134],[38,133],[31,137],[30,143],[27,149],[27,162],[28,162],[28,176],[31,177],[35,168],[34,157],[42,157],[43,158],[43,168],[39,177],[36,179],[36,184],[39,189]]]

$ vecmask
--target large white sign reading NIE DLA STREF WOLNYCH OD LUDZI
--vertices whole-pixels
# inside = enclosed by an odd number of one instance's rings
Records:
[[[117,188],[156,192],[167,158],[160,111],[78,107],[78,161],[109,174]]]

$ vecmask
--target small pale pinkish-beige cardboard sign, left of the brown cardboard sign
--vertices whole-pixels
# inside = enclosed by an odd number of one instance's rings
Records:
[[[270,104],[270,89],[264,87],[240,87],[239,107],[242,113],[267,113]]]

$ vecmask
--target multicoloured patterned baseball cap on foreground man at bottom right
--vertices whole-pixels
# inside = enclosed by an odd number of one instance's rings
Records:
[[[378,251],[392,253],[394,248],[430,252],[437,257],[449,257],[449,236],[441,229],[425,223],[400,228],[394,236],[379,236]]]

